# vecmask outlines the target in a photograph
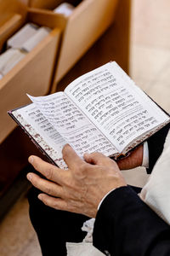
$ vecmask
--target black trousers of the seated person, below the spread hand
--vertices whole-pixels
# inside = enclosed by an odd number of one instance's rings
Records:
[[[136,187],[131,188],[136,193],[141,190]],[[82,241],[87,234],[81,230],[82,224],[89,218],[81,214],[47,207],[37,198],[39,193],[41,191],[32,188],[28,194],[28,201],[30,204],[31,224],[37,232],[42,255],[65,256],[65,242]]]

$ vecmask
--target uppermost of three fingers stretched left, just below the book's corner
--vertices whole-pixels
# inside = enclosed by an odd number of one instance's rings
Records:
[[[40,172],[44,177],[47,177],[48,180],[52,180],[59,184],[63,183],[63,180],[65,179],[65,171],[62,169],[49,164],[35,155],[31,155],[28,161],[37,170],[37,172]]]

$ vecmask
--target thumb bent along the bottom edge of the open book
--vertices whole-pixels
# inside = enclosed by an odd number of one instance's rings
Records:
[[[92,154],[84,154],[84,160],[86,160],[89,164],[98,165],[98,166],[116,166],[116,162],[111,160],[109,157],[105,156],[105,154],[101,154],[99,152],[94,152]]]

